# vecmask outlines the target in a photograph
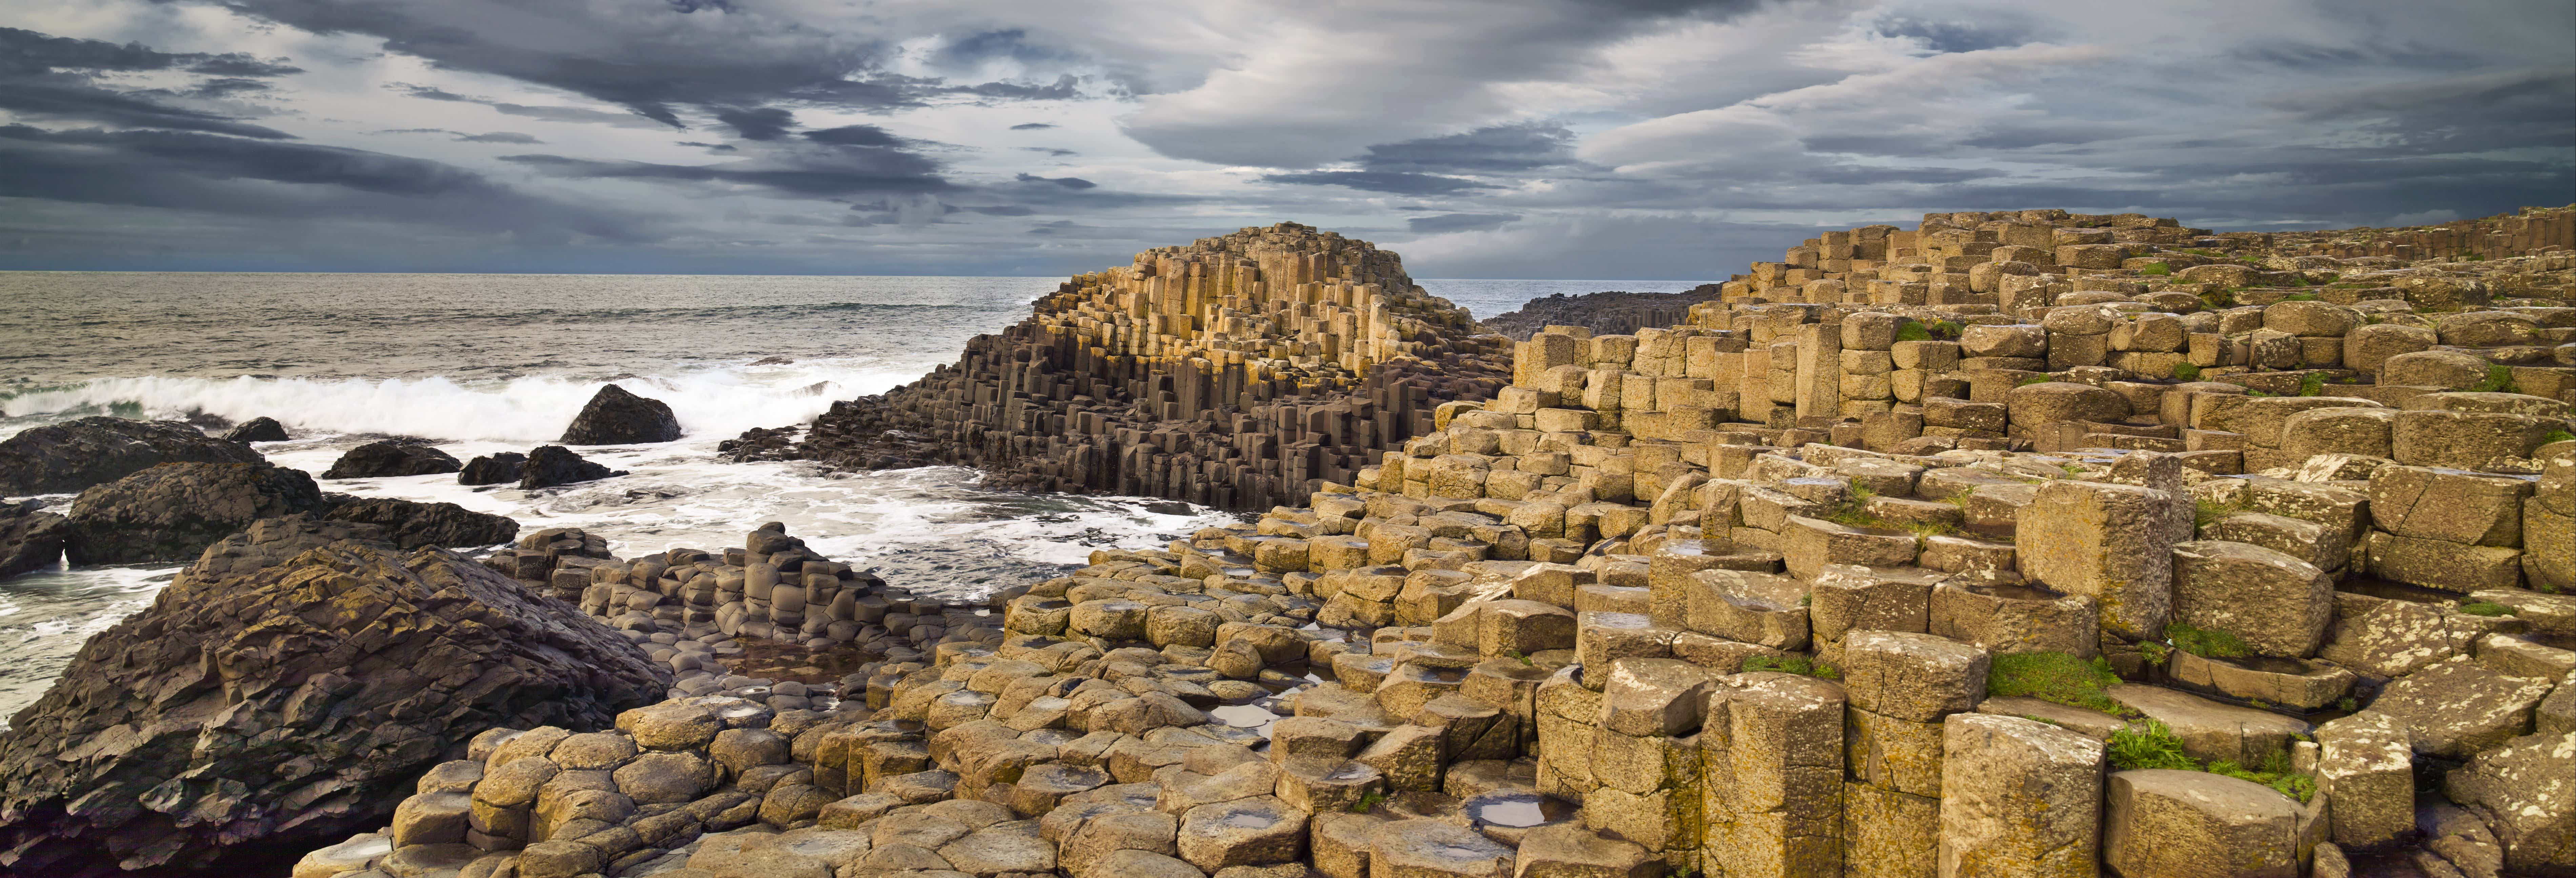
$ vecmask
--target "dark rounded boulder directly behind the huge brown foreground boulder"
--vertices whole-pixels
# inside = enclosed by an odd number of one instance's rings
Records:
[[[322,507],[301,469],[162,463],[72,500],[72,564],[188,561],[260,518]]]

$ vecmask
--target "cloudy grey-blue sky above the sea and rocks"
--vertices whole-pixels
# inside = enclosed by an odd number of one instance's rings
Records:
[[[0,0],[0,268],[1422,278],[2576,201],[2576,3]]]

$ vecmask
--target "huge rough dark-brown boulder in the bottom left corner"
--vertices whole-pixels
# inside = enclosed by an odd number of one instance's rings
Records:
[[[580,608],[443,548],[191,569],[0,736],[0,870],[206,875],[229,852],[332,845],[384,827],[474,734],[608,729],[670,680]]]

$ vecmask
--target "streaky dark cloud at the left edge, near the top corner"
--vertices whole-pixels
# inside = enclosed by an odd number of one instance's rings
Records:
[[[162,70],[204,72],[214,75],[214,80],[204,80],[188,90],[116,90],[98,82],[103,72]],[[291,134],[286,131],[247,124],[232,113],[167,100],[258,93],[268,88],[258,77],[291,72],[301,70],[283,62],[260,62],[247,54],[178,54],[155,51],[144,44],[118,46],[95,39],[0,28],[0,111],[26,118],[289,139]]]

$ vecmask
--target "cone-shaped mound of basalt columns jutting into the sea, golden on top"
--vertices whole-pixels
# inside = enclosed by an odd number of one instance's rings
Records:
[[[992,484],[1267,507],[1347,481],[1507,378],[1502,340],[1394,252],[1298,224],[1077,276],[956,366],[832,404],[801,443],[737,458],[966,463]]]

